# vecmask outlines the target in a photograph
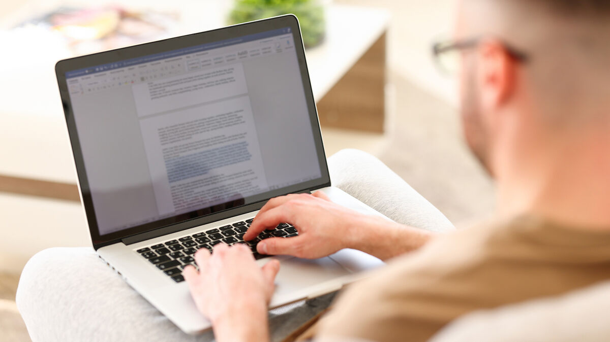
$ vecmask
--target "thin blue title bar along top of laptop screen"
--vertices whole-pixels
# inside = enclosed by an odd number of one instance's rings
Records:
[[[178,57],[182,55],[194,54],[195,52],[201,52],[206,50],[218,49],[218,47],[225,47],[235,44],[246,43],[248,41],[260,40],[268,37],[274,37],[290,33],[290,27],[284,27],[282,29],[276,29],[271,31],[265,31],[260,33],[254,33],[239,38],[232,38],[228,40],[216,41],[214,43],[201,44],[191,47],[184,47],[183,49],[172,50],[167,52],[160,52],[159,54],[148,55],[144,57],[131,58],[129,60],[117,61],[115,63],[107,63],[103,65],[92,66],[90,68],[78,69],[66,72],[66,79],[71,77],[79,77],[82,75],[91,75],[98,72],[105,72],[113,69],[126,68],[127,66],[138,65],[142,63],[149,63],[151,61],[164,60],[165,58]]]

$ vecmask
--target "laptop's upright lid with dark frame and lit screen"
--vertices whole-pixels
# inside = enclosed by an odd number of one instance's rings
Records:
[[[330,185],[293,15],[70,58],[56,74],[96,249]]]

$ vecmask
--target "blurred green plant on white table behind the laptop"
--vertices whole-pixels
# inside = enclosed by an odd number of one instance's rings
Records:
[[[305,47],[320,43],[325,34],[324,8],[318,0],[235,0],[229,24],[292,13],[301,24]]]

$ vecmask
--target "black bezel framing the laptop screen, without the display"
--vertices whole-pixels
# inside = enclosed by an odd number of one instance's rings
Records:
[[[281,29],[282,27],[290,27],[295,41],[295,51],[299,62],[301,79],[303,80],[304,95],[307,102],[310,121],[312,124],[312,132],[314,134],[314,142],[318,155],[318,162],[320,164],[321,177],[316,180],[310,180],[299,184],[293,184],[292,186],[284,187],[282,189],[273,190],[268,193],[267,198],[265,198],[264,200],[257,201],[256,203],[248,203],[229,209],[223,209],[222,205],[214,206],[217,207],[218,210],[203,216],[197,216],[200,215],[201,211],[190,212],[188,214],[194,217],[187,218],[180,222],[168,222],[167,224],[164,224],[165,222],[167,222],[165,221],[167,219],[163,219],[152,223],[146,223],[145,225],[123,229],[118,232],[100,235],[96,220],[95,208],[93,207],[93,200],[91,197],[90,187],[87,179],[87,173],[85,172],[85,164],[81,151],[81,144],[77,135],[76,122],[74,120],[74,115],[71,109],[70,96],[68,94],[68,87],[65,77],[66,72],[89,68],[91,66],[103,65],[106,63],[118,62],[122,60],[127,60],[129,58],[137,58],[145,55],[157,54],[159,52],[172,51],[175,49],[181,49],[189,46],[239,38],[254,33]],[[320,122],[318,120],[314,95],[309,80],[309,71],[307,70],[307,63],[305,60],[305,52],[303,40],[301,38],[300,26],[298,24],[298,19],[294,15],[276,16],[273,18],[262,19],[259,21],[252,21],[249,23],[222,27],[220,29],[193,33],[181,37],[168,38],[165,40],[153,41],[151,43],[138,44],[135,46],[123,47],[121,49],[114,49],[110,51],[99,52],[96,54],[69,58],[57,62],[55,69],[59,92],[62,99],[64,115],[66,119],[66,125],[68,128],[68,135],[70,137],[70,144],[72,147],[74,162],[76,165],[79,189],[81,190],[82,204],[85,209],[88,228],[91,234],[91,243],[93,244],[93,248],[95,248],[95,250],[98,250],[98,248],[101,248],[102,246],[111,245],[113,243],[121,241],[124,241],[126,243],[133,243],[144,238],[150,239],[152,237],[162,236],[171,232],[181,231],[199,225],[206,225],[207,223],[223,220],[224,218],[245,214],[246,212],[256,211],[262,208],[262,206],[267,202],[269,198],[298,192],[309,192],[311,190],[321,189],[323,187],[330,186],[331,184],[330,176],[328,173],[328,166],[326,164],[326,155],[322,143]],[[213,210],[214,207],[204,209]],[[172,218],[176,218],[177,216],[178,215],[171,217],[170,220]],[[181,216],[184,217],[184,215]],[[152,225],[155,224],[157,226],[153,227]]]

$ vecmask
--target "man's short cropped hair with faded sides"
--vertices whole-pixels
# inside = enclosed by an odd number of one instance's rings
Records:
[[[610,118],[610,0],[464,1],[466,35],[497,35],[531,57],[525,78],[549,117],[594,117],[573,114],[589,103]]]

